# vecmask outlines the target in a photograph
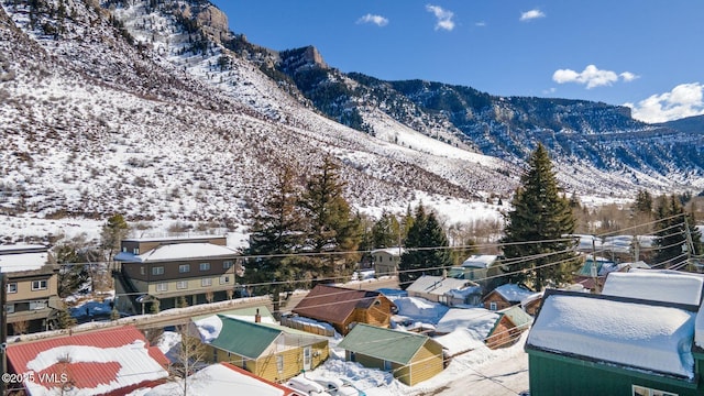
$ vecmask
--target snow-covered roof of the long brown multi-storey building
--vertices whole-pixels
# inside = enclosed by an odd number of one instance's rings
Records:
[[[235,256],[233,249],[212,243],[174,243],[160,245],[143,254],[120,252],[114,256],[116,261],[130,263],[148,263],[174,260],[211,258]]]

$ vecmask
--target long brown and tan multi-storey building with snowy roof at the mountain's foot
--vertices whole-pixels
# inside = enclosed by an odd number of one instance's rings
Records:
[[[238,252],[217,235],[127,239],[114,261],[116,288],[136,297],[138,311],[146,304],[174,308],[182,297],[188,305],[232,298],[237,277],[243,275]]]

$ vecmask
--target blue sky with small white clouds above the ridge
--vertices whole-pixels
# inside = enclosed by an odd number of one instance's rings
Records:
[[[628,105],[649,122],[704,113],[700,0],[212,2],[250,42],[315,45],[345,73]]]

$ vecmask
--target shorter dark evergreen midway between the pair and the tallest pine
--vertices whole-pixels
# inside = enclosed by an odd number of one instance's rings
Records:
[[[448,246],[448,237],[435,213],[428,215],[422,205],[418,206],[398,265],[400,287],[405,289],[422,275],[441,275],[443,270],[451,267]]]

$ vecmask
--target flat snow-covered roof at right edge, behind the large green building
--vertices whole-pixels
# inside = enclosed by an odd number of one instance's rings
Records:
[[[610,273],[602,294],[698,306],[703,287],[704,277],[701,276],[646,270]]]

